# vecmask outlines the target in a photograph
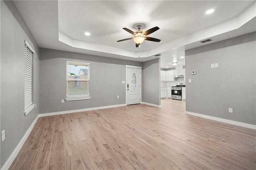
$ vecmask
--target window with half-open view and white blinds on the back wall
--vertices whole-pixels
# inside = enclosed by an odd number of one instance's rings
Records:
[[[90,99],[90,63],[67,61],[66,101]]]

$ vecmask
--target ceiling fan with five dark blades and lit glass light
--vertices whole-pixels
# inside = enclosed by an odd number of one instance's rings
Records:
[[[128,28],[123,28],[124,30],[126,30],[127,32],[129,32],[130,34],[134,35],[135,37],[134,38],[126,38],[126,39],[123,39],[123,40],[119,40],[117,42],[122,42],[122,41],[126,41],[126,40],[134,40],[134,42],[136,43],[136,47],[139,47],[140,44],[142,42],[144,42],[144,40],[148,40],[148,41],[152,41],[152,42],[160,42],[161,40],[157,39],[157,38],[152,38],[152,37],[146,37],[147,35],[159,30],[160,28],[159,27],[154,27],[154,28],[151,28],[145,32],[141,31],[140,30],[141,28],[141,25],[138,25],[137,26],[137,31],[136,32],[133,32],[132,30],[129,30]]]

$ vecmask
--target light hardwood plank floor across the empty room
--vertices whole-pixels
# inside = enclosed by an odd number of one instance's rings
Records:
[[[9,169],[256,169],[256,130],[161,102],[41,117]]]

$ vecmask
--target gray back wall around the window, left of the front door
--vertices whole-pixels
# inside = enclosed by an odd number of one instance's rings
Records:
[[[61,103],[66,97],[66,61],[90,63],[91,99]],[[122,84],[126,79],[125,65],[142,66],[142,63],[40,48],[39,113],[125,104],[126,88]]]

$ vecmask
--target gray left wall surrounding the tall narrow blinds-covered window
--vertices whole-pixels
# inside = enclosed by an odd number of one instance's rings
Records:
[[[38,108],[24,116],[24,40],[34,48],[34,103],[38,103],[39,49],[12,1],[1,3],[1,168],[38,115]]]

